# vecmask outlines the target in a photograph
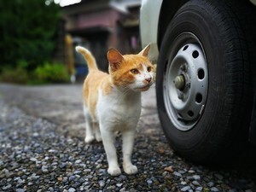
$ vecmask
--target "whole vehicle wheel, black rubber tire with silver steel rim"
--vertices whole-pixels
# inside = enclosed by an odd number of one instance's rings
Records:
[[[234,4],[185,3],[160,45],[156,74],[160,123],[171,147],[195,162],[229,160],[247,143],[252,49]],[[241,9],[239,3],[236,9]]]

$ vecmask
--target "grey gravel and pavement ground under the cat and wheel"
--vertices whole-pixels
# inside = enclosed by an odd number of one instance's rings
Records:
[[[256,191],[249,153],[211,168],[175,154],[160,129],[154,89],[143,94],[137,126],[139,172],[109,176],[102,143],[84,143],[80,89],[0,84],[0,191]],[[120,137],[116,146],[121,157]]]

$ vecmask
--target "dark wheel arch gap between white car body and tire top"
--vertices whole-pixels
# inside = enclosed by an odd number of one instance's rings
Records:
[[[158,26],[158,47],[160,48],[160,44],[162,43],[163,37],[166,33],[166,29],[169,23],[172,20],[172,17],[176,14],[177,10],[180,9],[184,3],[187,3],[189,0],[171,0],[171,1],[163,1],[161,9],[160,9],[160,22]]]

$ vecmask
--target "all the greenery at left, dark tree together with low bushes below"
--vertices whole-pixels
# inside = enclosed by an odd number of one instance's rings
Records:
[[[60,17],[53,0],[0,1],[0,81],[68,82],[66,67],[50,62]]]

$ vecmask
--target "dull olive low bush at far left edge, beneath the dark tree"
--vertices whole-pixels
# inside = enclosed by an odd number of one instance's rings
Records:
[[[28,82],[28,74],[21,67],[15,69],[5,67],[2,69],[0,80],[12,84],[26,84]]]

